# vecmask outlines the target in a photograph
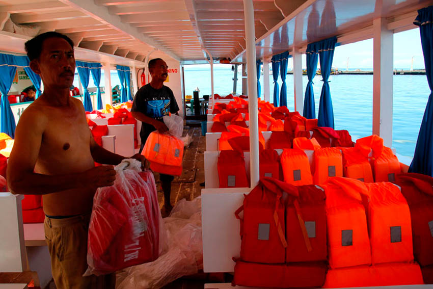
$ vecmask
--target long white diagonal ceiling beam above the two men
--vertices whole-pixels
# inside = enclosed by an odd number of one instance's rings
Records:
[[[106,7],[101,7],[96,5],[93,1],[89,0],[59,0],[64,4],[72,6],[79,11],[99,20],[100,22],[110,25],[113,29],[120,31],[122,33],[126,33],[130,35],[132,38],[137,39],[138,41],[157,48],[163,52],[165,52],[169,57],[180,60],[178,55],[175,55],[165,47],[161,46],[155,40],[144,36],[140,33],[137,28],[128,25],[127,23],[122,22],[120,16],[111,15]]]

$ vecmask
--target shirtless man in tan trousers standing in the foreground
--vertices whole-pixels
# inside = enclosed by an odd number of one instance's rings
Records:
[[[44,93],[22,114],[8,164],[14,194],[43,195],[45,239],[57,288],[114,288],[115,275],[82,277],[87,269],[87,235],[93,196],[111,186],[113,166],[124,157],[94,141],[83,103],[69,96],[74,80],[73,42],[56,32],[25,43],[30,67]],[[143,161],[143,156],[134,155]]]

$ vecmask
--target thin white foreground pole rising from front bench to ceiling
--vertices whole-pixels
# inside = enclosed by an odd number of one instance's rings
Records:
[[[247,42],[247,69],[248,69],[248,106],[250,113],[250,162],[251,162],[251,188],[257,186],[260,179],[259,168],[259,121],[257,111],[257,67],[256,44],[254,29],[253,0],[243,0],[243,13],[245,14],[245,36]]]

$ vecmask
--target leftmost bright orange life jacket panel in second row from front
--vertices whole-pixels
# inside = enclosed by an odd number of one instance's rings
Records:
[[[283,168],[285,182],[294,186],[313,184],[310,163],[303,150],[284,149],[281,154],[281,167]]]

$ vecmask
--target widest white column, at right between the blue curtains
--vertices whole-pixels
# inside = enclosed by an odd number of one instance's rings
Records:
[[[393,31],[387,20],[373,20],[373,134],[392,146]]]

